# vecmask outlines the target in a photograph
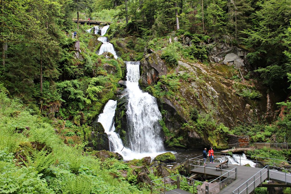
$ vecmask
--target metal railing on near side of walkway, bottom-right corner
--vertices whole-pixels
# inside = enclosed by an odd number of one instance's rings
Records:
[[[272,170],[272,168],[273,168],[273,170]],[[248,194],[249,191],[253,191],[258,185],[262,186],[262,182],[265,179],[269,180],[269,179],[274,178],[274,177],[272,177],[272,175],[270,175],[270,172],[275,172],[277,174],[280,174],[279,176],[281,178],[283,177],[281,179],[281,181],[285,180],[284,181],[285,184],[287,184],[287,179],[291,179],[290,170],[285,169],[285,168],[279,168],[277,166],[266,165],[259,172],[257,172],[255,175],[253,175],[251,178],[249,178],[247,181],[245,181],[243,184],[241,184],[238,188],[236,188],[233,191],[233,194]],[[278,175],[277,175],[277,177],[278,177]]]

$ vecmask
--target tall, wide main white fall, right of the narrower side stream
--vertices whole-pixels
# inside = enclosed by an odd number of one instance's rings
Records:
[[[128,92],[128,133],[130,149],[138,153],[156,153],[164,150],[161,138],[156,99],[139,88],[139,61],[126,61]]]

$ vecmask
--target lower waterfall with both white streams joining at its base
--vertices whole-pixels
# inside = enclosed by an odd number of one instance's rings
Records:
[[[147,92],[140,90],[139,62],[126,62],[127,67],[127,93],[128,93],[128,133],[129,147],[124,147],[119,135],[114,132],[113,118],[116,101],[109,100],[99,115],[100,122],[108,135],[110,151],[118,152],[124,160],[141,159],[146,156],[153,157],[164,153],[159,120],[162,118],[156,99]]]

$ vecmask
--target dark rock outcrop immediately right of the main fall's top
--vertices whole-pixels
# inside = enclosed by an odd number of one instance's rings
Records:
[[[167,67],[158,53],[146,55],[141,60],[141,85],[147,87],[157,83],[159,76],[167,74]]]

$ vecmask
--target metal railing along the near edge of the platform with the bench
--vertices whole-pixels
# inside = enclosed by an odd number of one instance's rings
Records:
[[[206,164],[210,164],[206,162]],[[233,181],[237,179],[237,167],[228,165],[228,167],[233,167],[230,170],[226,169],[219,169],[220,176],[216,179],[212,180],[211,182],[205,182],[205,194],[216,193],[218,190],[221,191],[223,188],[231,184]],[[204,166],[203,159],[190,159],[189,160],[189,173],[191,168],[204,168],[204,174],[206,174],[207,169],[215,169],[213,167]]]

